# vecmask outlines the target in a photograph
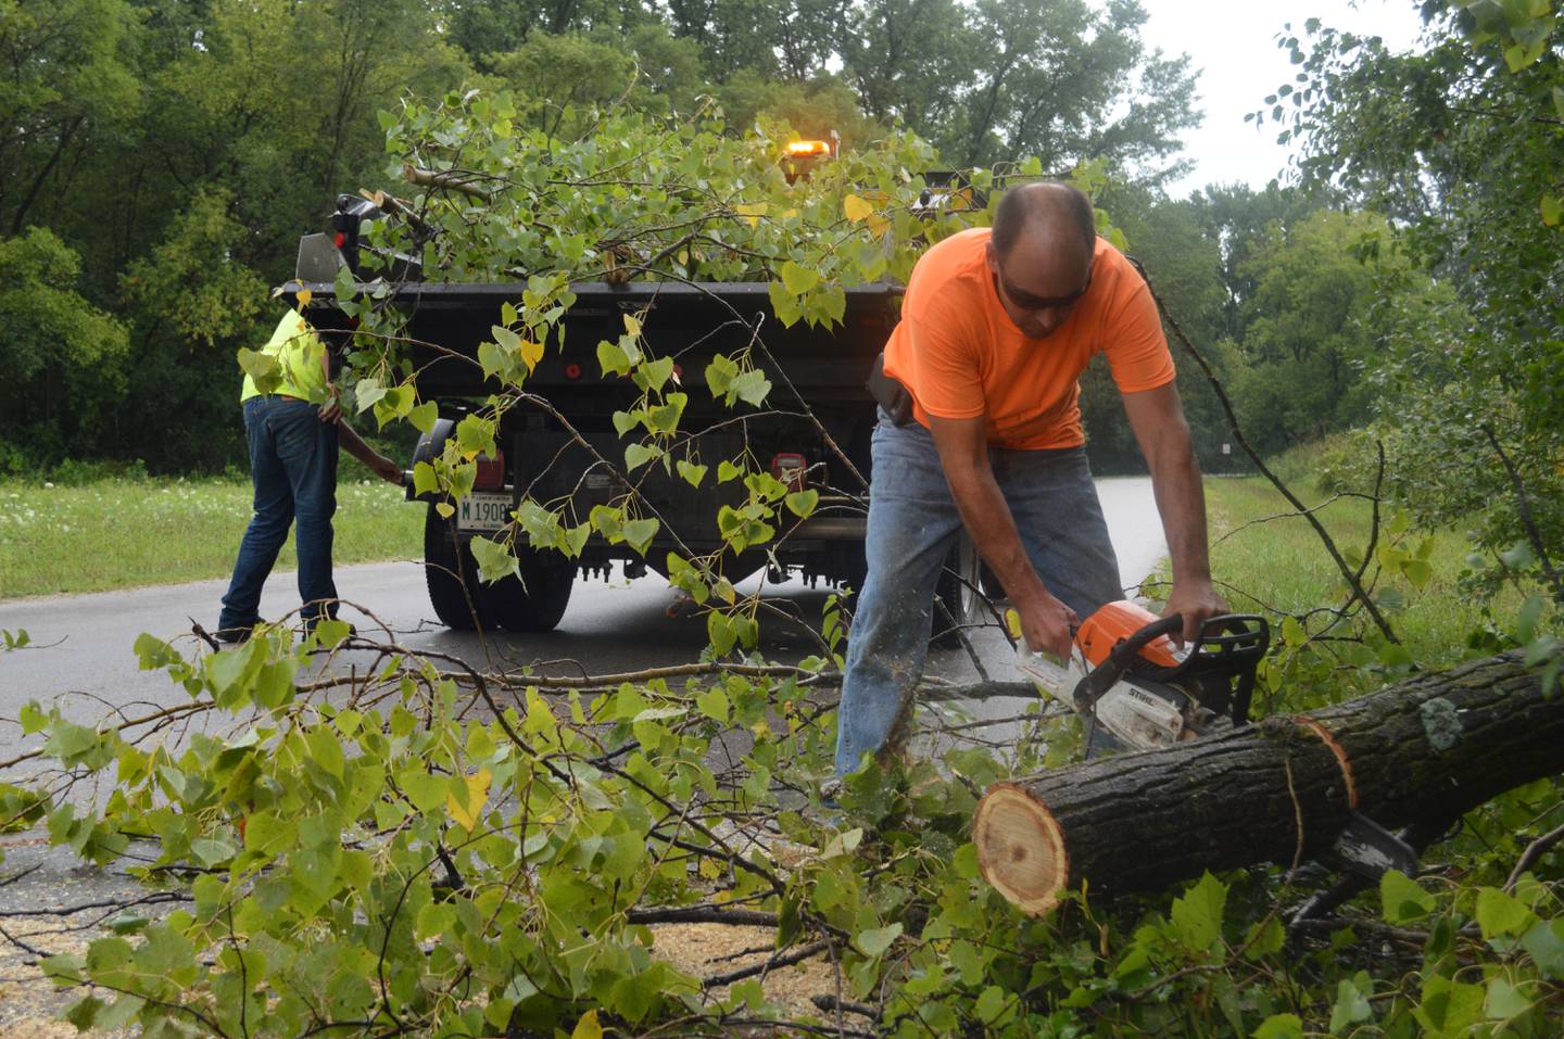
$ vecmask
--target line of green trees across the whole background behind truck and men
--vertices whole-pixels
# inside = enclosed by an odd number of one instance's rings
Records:
[[[297,236],[396,183],[377,109],[475,84],[560,134],[594,105],[716,103],[848,148],[902,123],[952,167],[1098,162],[1262,452],[1376,422],[1398,472],[1450,461],[1429,517],[1512,497],[1495,439],[1547,491],[1564,86],[1551,22],[1514,6],[1425,3],[1411,55],[1300,27],[1257,112],[1304,145],[1298,183],[1171,198],[1196,73],[1134,0],[0,0],[0,472],[242,459],[233,353]],[[1231,466],[1182,369],[1203,461]],[[1098,467],[1137,464],[1106,372],[1085,397]]]

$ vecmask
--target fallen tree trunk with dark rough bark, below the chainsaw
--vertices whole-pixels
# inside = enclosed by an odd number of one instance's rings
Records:
[[[1032,914],[1087,881],[1151,891],[1204,870],[1328,852],[1359,811],[1451,820],[1564,772],[1564,697],[1508,653],[1350,703],[1167,750],[999,783],[978,803],[984,878]]]

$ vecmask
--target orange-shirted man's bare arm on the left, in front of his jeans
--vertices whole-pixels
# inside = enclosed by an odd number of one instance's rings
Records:
[[[988,467],[985,419],[937,419],[929,416],[929,431],[940,453],[940,467],[951,484],[951,497],[962,514],[962,523],[978,545],[978,553],[995,572],[1015,611],[1021,616],[1021,634],[1034,648],[1070,655],[1070,625],[1074,612],[1043,586],[1032,567],[1015,517]]]

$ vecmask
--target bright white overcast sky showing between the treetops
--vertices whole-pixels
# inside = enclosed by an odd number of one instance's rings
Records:
[[[1243,181],[1264,187],[1287,164],[1289,150],[1276,144],[1278,130],[1256,130],[1243,116],[1264,105],[1265,95],[1292,81],[1297,69],[1276,34],[1292,22],[1320,19],[1325,25],[1383,36],[1392,50],[1411,47],[1422,22],[1415,0],[1140,0],[1150,20],[1143,30],[1151,47],[1187,53],[1201,69],[1196,106],[1206,122],[1184,134],[1184,155],[1195,172],[1170,184],[1175,197],[1209,183]]]

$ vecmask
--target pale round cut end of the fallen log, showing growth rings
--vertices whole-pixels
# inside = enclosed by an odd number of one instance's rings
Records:
[[[984,880],[1023,912],[1043,916],[1059,905],[1070,877],[1064,830],[1024,787],[988,787],[973,817],[973,844]]]

